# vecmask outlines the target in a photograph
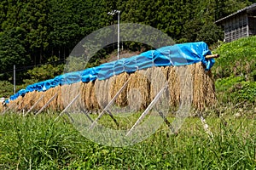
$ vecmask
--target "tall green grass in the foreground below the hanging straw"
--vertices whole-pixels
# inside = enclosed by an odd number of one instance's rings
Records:
[[[212,140],[199,118],[188,118],[177,136],[167,137],[163,125],[141,143],[114,148],[85,139],[55,116],[0,116],[0,169],[256,168],[254,119],[209,117]]]

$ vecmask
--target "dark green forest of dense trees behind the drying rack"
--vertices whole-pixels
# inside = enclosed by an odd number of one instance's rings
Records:
[[[108,15],[113,9],[121,11],[121,23],[153,26],[176,42],[212,44],[223,35],[214,20],[251,3],[255,0],[2,0],[0,79],[12,81],[16,65],[21,84],[32,78],[27,70],[34,65],[64,62],[83,37],[117,22]]]

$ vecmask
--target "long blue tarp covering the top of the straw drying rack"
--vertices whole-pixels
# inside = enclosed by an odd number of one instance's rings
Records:
[[[44,82],[34,83],[12,95],[10,100],[17,99],[20,95],[34,90],[40,92],[64,84],[90,82],[96,79],[105,80],[123,72],[131,73],[152,66],[179,66],[202,62],[206,66],[206,70],[209,70],[215,61],[214,59],[206,59],[205,55],[207,54],[211,54],[211,51],[205,42],[189,42],[166,46],[149,50],[131,58],[115,60],[84,71],[69,72]]]

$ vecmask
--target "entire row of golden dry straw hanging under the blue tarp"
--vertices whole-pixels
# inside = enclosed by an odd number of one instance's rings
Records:
[[[27,93],[24,98],[19,97],[14,102],[17,105],[23,102],[19,109],[24,108],[25,105],[29,109],[44,94],[44,99],[35,108],[38,110],[53,95],[57,94],[48,108],[62,111],[77,94],[80,94],[80,98],[73,103],[72,109],[76,110],[81,106],[90,111],[103,109],[129,77],[131,80],[127,87],[115,101],[119,106],[137,105],[138,109],[145,109],[166,81],[169,85],[170,106],[178,106],[180,101],[189,102],[193,99],[195,108],[202,111],[206,106],[213,105],[216,99],[211,72],[205,71],[204,65],[197,63],[183,66],[152,67],[147,70],[136,71],[130,75],[122,73],[103,81],[96,80],[57,86],[44,93],[37,91]]]

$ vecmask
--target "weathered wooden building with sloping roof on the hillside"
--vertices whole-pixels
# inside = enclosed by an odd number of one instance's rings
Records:
[[[224,27],[224,42],[256,35],[256,3],[215,22]]]

